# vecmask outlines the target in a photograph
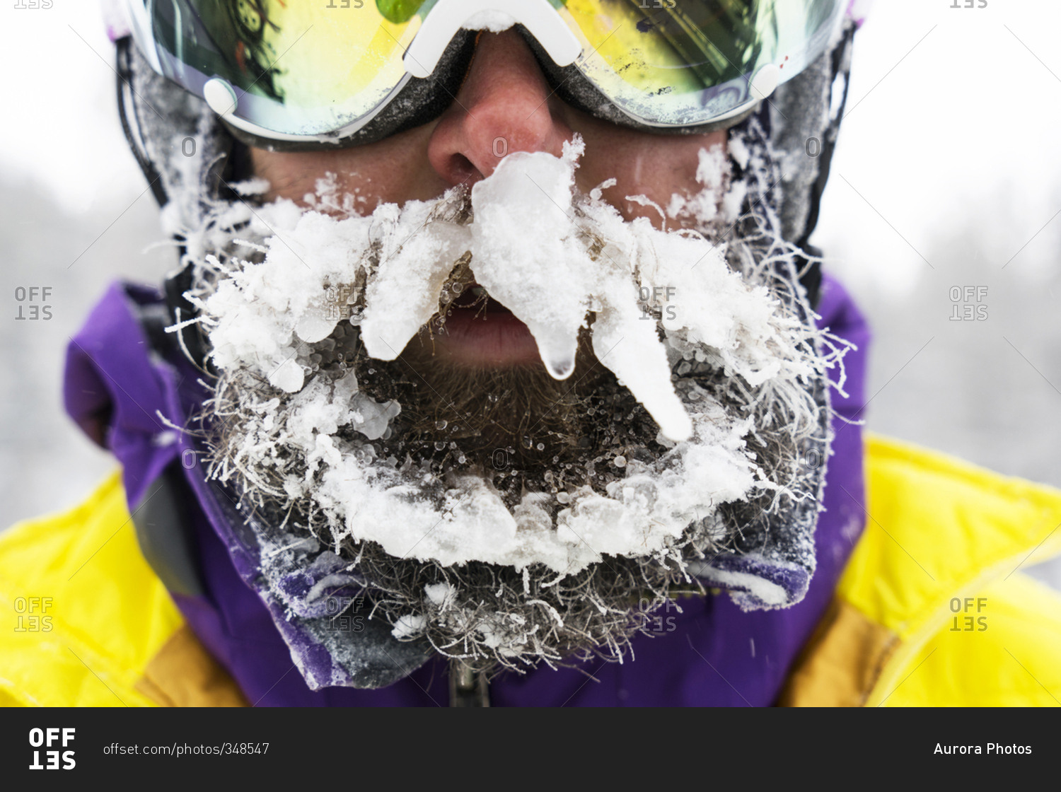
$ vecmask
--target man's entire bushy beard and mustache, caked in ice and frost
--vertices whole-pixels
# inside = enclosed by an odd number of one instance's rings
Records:
[[[835,355],[776,266],[766,165],[731,146],[741,179],[701,152],[703,191],[659,208],[695,231],[579,193],[577,139],[433,203],[360,215],[325,189],[214,217],[190,293],[218,373],[202,419],[210,475],[273,533],[263,575],[312,534],[395,637],[520,668],[621,656],[694,571],[725,582],[713,557],[768,553],[755,526],[817,497]],[[494,303],[541,363],[436,355]]]

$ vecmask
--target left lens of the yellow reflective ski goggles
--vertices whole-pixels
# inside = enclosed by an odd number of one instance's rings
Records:
[[[203,95],[231,86],[234,116],[324,135],[379,109],[406,78],[423,0],[147,0],[162,71]]]

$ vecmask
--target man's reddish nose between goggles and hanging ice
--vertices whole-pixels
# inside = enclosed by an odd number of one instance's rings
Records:
[[[432,168],[451,184],[486,178],[512,152],[559,157],[573,133],[550,111],[557,100],[516,31],[483,33],[468,74],[428,142]]]

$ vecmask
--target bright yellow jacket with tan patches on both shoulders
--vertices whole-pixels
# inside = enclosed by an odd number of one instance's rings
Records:
[[[867,526],[786,705],[1061,704],[1061,492],[870,436]],[[245,705],[143,560],[117,474],[0,534],[0,704]]]

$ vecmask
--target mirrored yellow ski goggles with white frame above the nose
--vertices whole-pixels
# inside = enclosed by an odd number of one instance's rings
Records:
[[[476,31],[518,25],[553,90],[597,118],[708,131],[828,48],[841,0],[124,0],[151,66],[269,148],[437,118]],[[242,134],[241,134],[242,133]]]

